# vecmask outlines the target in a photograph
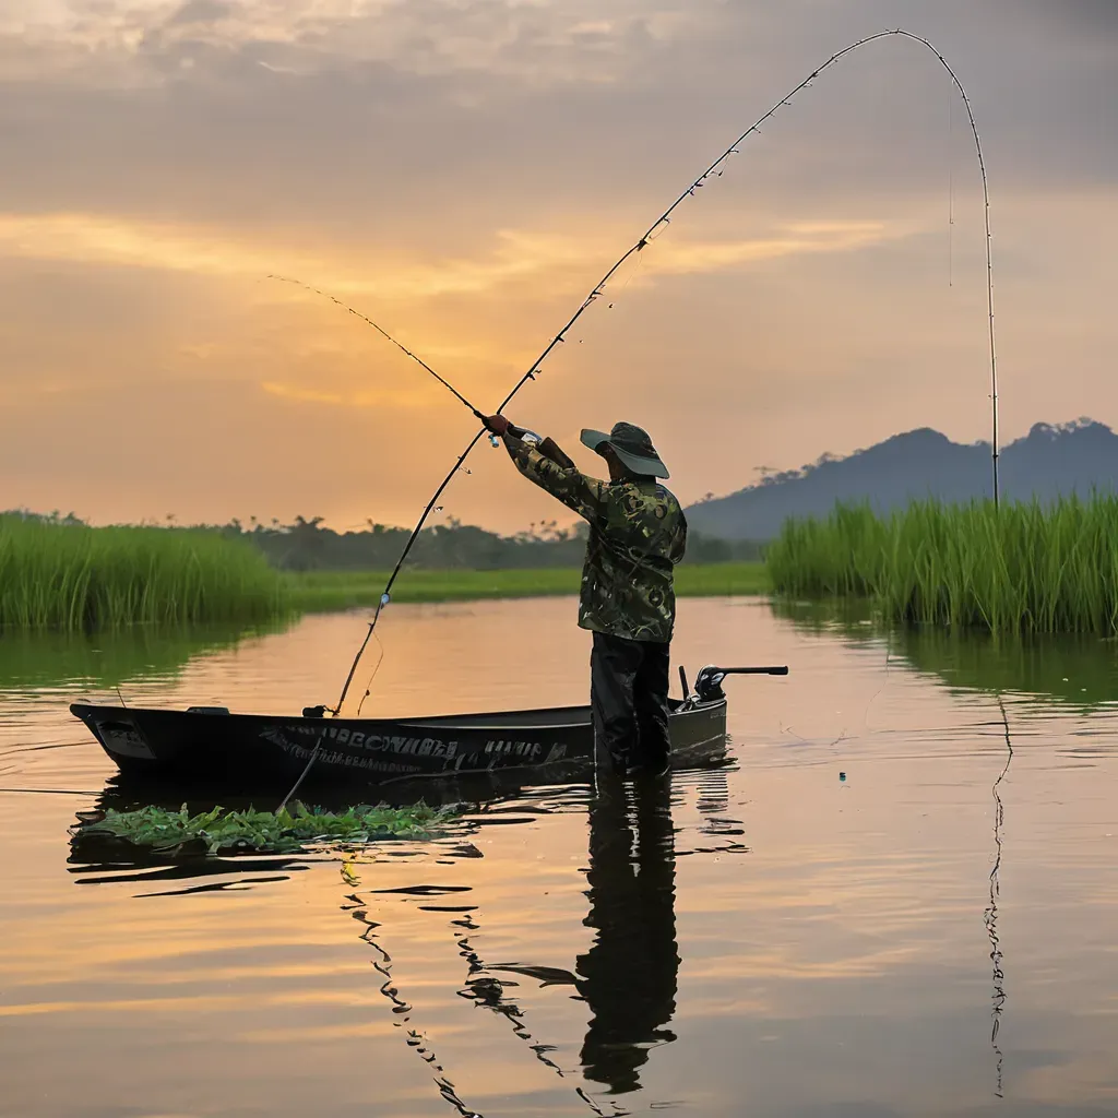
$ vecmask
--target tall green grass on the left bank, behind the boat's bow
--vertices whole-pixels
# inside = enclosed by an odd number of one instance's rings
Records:
[[[256,620],[274,616],[285,597],[259,551],[214,532],[0,515],[0,626]]]

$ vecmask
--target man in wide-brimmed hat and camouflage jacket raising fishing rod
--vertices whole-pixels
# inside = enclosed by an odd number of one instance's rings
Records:
[[[598,764],[615,773],[669,769],[667,669],[675,623],[673,574],[686,547],[686,520],[657,477],[667,470],[639,427],[584,430],[609,481],[579,472],[551,438],[485,418],[517,468],[590,525],[578,624],[594,634],[590,705]]]

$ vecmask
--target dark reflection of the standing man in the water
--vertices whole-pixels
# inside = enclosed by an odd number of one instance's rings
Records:
[[[593,1014],[582,1072],[615,1095],[638,1090],[638,1069],[675,1011],[675,852],[670,789],[636,780],[636,852],[625,789],[609,784],[590,804],[590,911],[594,945],[578,958],[579,993]]]

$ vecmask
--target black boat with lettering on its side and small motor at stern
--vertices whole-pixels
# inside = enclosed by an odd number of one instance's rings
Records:
[[[702,765],[724,746],[726,675],[787,671],[708,666],[693,693],[681,671],[685,698],[669,700],[672,767]],[[352,788],[515,768],[539,770],[548,780],[594,762],[589,707],[414,719],[326,718],[322,707],[306,708],[302,717],[86,703],[74,703],[70,712],[123,775],[203,780],[241,794],[291,785],[309,768],[311,784]]]

